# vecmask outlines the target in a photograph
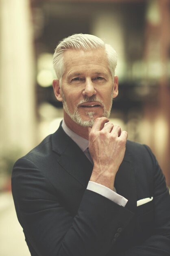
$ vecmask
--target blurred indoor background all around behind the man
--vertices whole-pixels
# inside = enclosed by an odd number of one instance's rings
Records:
[[[15,160],[57,130],[54,49],[75,33],[118,53],[111,120],[155,153],[170,186],[170,0],[0,0],[0,255],[30,255],[17,222]]]

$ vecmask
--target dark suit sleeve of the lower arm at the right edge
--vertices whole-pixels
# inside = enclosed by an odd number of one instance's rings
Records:
[[[145,146],[153,160],[155,229],[144,243],[117,256],[170,256],[170,193],[155,156]]]

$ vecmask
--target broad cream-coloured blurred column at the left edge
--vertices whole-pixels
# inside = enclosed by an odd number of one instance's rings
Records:
[[[0,153],[36,144],[34,70],[29,0],[0,0]]]

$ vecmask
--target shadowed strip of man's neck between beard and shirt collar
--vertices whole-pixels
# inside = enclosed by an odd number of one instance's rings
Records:
[[[68,126],[68,128],[70,130],[72,130],[73,132],[75,132],[76,134],[78,134],[79,136],[85,138],[85,139],[89,139],[89,133],[88,133],[88,129],[87,127],[83,127],[80,126],[78,124],[76,124],[69,116],[67,113],[65,113],[64,111],[64,121],[66,126]]]

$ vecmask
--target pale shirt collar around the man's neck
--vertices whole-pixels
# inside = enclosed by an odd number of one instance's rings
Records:
[[[87,139],[84,139],[83,137],[79,136],[72,130],[70,130],[70,128],[68,128],[68,126],[66,126],[64,119],[62,121],[62,128],[65,131],[65,133],[79,146],[79,148],[81,148],[81,150],[83,152],[88,148],[89,141]]]

